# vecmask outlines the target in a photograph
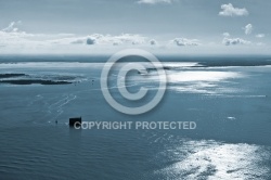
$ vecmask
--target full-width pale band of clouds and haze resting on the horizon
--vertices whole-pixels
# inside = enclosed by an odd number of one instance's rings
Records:
[[[233,44],[251,44],[234,47],[234,52],[244,50],[247,52],[263,52],[269,53],[270,49],[263,43],[251,43],[250,41],[241,38],[231,38],[229,33],[223,34],[222,43],[202,43],[197,39],[175,38],[167,39],[152,39],[152,37],[144,37],[134,34],[121,35],[102,35],[92,34],[89,36],[77,36],[73,34],[29,34],[17,28],[20,22],[11,23],[8,27],[0,30],[0,53],[113,53],[124,48],[142,48],[155,53],[224,53],[231,48],[225,46]],[[263,35],[263,34],[259,34]],[[262,37],[262,36],[259,36]],[[199,43],[201,42],[201,43]],[[264,47],[263,47],[264,46]],[[183,48],[180,48],[183,47]],[[185,48],[186,47],[186,48]],[[193,48],[191,48],[193,47]],[[251,51],[250,51],[251,50]]]

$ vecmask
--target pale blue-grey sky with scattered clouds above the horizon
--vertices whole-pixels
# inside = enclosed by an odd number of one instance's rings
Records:
[[[0,0],[0,54],[270,54],[270,0]]]

